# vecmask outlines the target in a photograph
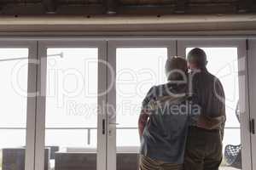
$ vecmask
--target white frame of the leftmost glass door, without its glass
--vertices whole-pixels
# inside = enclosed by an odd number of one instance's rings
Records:
[[[34,170],[35,117],[36,117],[36,80],[37,80],[37,42],[26,40],[0,41],[0,48],[28,48],[27,97],[26,103],[26,156],[25,169]]]

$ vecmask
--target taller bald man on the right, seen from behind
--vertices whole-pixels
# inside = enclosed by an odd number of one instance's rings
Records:
[[[222,161],[225,96],[217,77],[207,71],[207,54],[194,48],[188,54],[189,86],[201,115],[189,127],[185,152],[185,170],[218,170]]]

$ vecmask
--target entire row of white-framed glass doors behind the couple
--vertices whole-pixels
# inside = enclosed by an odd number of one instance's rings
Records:
[[[20,166],[6,164],[19,152],[26,170],[137,170],[142,100],[166,83],[166,59],[191,48],[206,51],[208,71],[224,85],[224,153],[237,146],[242,169],[253,169],[256,42],[216,38],[0,42],[2,167]]]

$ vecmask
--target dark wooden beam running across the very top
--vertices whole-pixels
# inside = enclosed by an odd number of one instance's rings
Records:
[[[0,0],[1,1],[1,0]],[[113,2],[111,2],[113,1]],[[179,0],[180,1],[180,0]],[[244,1],[244,0],[242,0]],[[246,0],[247,1],[247,0]],[[46,2],[49,4],[46,5]],[[51,4],[50,4],[51,3]],[[0,15],[44,15],[55,14],[76,14],[76,15],[104,15],[104,14],[125,14],[125,15],[165,15],[165,14],[237,14],[238,3],[232,4],[188,4],[186,1],[176,5],[176,3],[168,5],[121,5],[115,0],[105,0],[104,4],[88,4],[88,5],[69,5],[59,4],[52,0],[44,0],[43,3],[1,3],[2,10]],[[57,7],[57,8],[56,8]],[[108,8],[107,8],[108,7]],[[247,8],[246,8],[247,9]],[[249,6],[249,10],[244,13],[255,13],[256,6]]]

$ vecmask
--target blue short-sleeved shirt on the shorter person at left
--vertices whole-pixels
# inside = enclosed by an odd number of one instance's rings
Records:
[[[141,154],[182,164],[192,107],[186,84],[166,83],[150,88],[143,99],[143,110],[149,118],[143,130]]]

